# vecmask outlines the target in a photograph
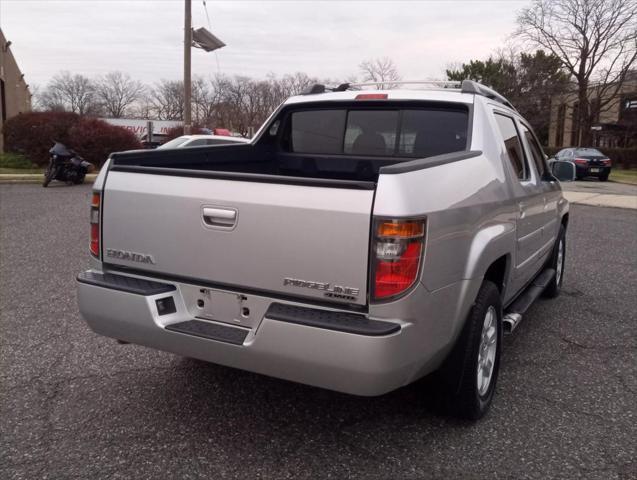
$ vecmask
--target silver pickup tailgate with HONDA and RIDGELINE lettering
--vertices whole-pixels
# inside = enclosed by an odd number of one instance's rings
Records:
[[[103,195],[108,264],[366,303],[372,189],[110,171]]]

